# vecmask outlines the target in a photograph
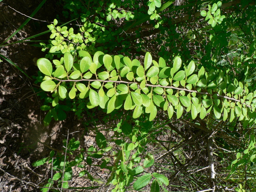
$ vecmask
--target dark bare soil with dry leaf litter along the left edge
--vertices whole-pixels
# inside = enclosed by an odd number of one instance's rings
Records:
[[[42,1],[5,0],[0,3],[0,44],[11,36]],[[48,30],[61,10],[57,1],[47,1],[36,15],[16,35],[4,43],[10,44]],[[43,21],[41,21],[43,20]],[[49,34],[33,40],[47,41]],[[45,53],[36,43],[14,43],[0,46],[0,54],[13,61],[29,77],[36,76],[37,58]],[[29,79],[6,60],[0,62],[0,191],[40,191],[31,183],[42,178],[31,164],[49,155],[51,149],[62,147],[62,140],[69,130],[76,131],[70,123],[52,122],[45,128],[42,120],[45,116],[40,110],[42,105],[36,96],[34,79]],[[69,131],[69,132],[71,132]]]

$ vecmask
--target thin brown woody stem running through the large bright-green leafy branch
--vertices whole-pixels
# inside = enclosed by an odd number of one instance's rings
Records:
[[[58,81],[61,81],[61,82],[80,82],[80,81],[88,81],[88,82],[93,82],[93,81],[100,81],[100,82],[104,82],[104,83],[125,83],[125,84],[132,84],[132,83],[135,83],[135,84],[138,84],[140,85],[140,83],[138,82],[129,82],[129,81],[112,81],[112,80],[100,80],[100,79],[78,79],[78,80],[73,80],[73,79],[68,79],[68,80],[61,80],[61,79],[57,79],[57,78],[54,78]],[[162,88],[166,88],[166,89],[176,89],[176,90],[180,90],[180,91],[186,91],[186,92],[195,92],[195,93],[198,93],[198,94],[206,94],[206,95],[212,95],[208,92],[198,92],[196,90],[189,90],[189,89],[186,89],[186,88],[179,88],[179,87],[174,87],[174,86],[163,86],[163,85],[152,85],[152,84],[146,84],[146,86],[148,87],[162,87]],[[226,95],[219,95],[217,93],[218,97],[222,97],[222,98],[225,98],[225,99],[228,99],[228,100],[233,100],[233,101],[236,101],[236,102],[239,102],[241,103],[240,100],[238,99],[234,99],[232,97],[228,97]]]

